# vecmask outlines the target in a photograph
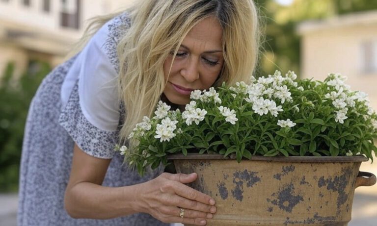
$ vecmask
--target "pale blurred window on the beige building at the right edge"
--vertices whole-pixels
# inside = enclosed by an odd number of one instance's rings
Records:
[[[362,43],[362,71],[364,73],[377,73],[377,40]]]

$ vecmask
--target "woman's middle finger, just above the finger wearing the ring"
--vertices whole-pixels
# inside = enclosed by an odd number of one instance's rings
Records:
[[[207,205],[199,201],[195,200],[188,200],[181,196],[176,196],[174,199],[170,199],[171,202],[168,203],[169,205],[173,206],[180,206],[182,208],[188,209],[188,210],[196,210],[200,212],[207,213],[215,213],[216,207],[213,205]],[[206,216],[203,215],[203,218],[206,218]]]

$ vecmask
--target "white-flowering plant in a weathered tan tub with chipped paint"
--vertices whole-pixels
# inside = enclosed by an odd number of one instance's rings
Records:
[[[342,75],[296,77],[195,90],[183,112],[160,102],[118,150],[140,174],[168,159],[196,172],[216,198],[210,226],[347,226],[354,189],[376,183],[359,166],[377,153],[377,115]]]

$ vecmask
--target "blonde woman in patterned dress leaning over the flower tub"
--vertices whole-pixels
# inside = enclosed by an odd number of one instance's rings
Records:
[[[249,80],[258,54],[251,0],[140,0],[97,18],[78,53],[42,82],[25,131],[18,225],[205,225],[196,174],[140,177],[113,147],[159,100]]]

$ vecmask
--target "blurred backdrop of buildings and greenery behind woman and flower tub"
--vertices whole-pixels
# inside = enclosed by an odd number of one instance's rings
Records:
[[[85,21],[133,0],[0,0],[0,225],[16,225],[27,109],[39,83],[81,37]],[[255,0],[264,34],[256,75],[348,76],[377,109],[377,0]],[[377,175],[377,164],[362,171]],[[376,226],[377,186],[356,189],[350,226]]]

